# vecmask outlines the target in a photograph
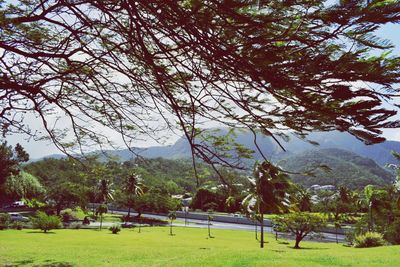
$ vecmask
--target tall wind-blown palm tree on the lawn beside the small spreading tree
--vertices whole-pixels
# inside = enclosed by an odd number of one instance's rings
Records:
[[[264,247],[264,213],[279,213],[288,209],[289,200],[287,191],[291,187],[287,174],[272,165],[269,161],[256,163],[254,179],[251,183],[250,194],[243,200],[243,204],[251,212],[258,214],[261,224],[260,247]]]

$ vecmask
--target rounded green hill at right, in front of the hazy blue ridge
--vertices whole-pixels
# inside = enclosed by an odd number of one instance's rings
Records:
[[[342,149],[315,149],[279,162],[285,170],[292,172],[305,172],[320,164],[326,164],[332,170],[318,170],[315,177],[292,175],[291,178],[306,187],[332,184],[345,185],[352,189],[360,189],[368,184],[383,186],[394,181],[394,175],[373,160]]]

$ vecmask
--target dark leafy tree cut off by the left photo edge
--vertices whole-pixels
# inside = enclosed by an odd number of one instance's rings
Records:
[[[0,144],[0,186],[11,175],[18,175],[19,164],[28,160],[29,155],[20,144],[16,144],[13,149],[12,146],[7,145],[7,142],[2,142]]]

